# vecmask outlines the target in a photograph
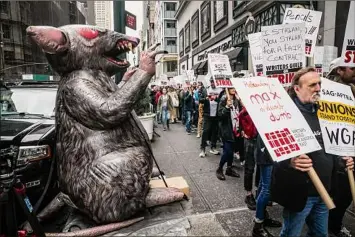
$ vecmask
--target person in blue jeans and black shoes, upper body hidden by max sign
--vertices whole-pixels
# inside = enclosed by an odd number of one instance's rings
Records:
[[[270,201],[270,185],[274,161],[267,151],[260,135],[256,138],[255,160],[260,170],[260,182],[256,199],[253,237],[272,236],[264,227],[281,227],[279,221],[269,217],[266,207]]]

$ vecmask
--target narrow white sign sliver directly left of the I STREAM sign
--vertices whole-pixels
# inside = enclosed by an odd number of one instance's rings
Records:
[[[263,74],[263,50],[261,48],[261,32],[248,34],[248,40],[254,75],[261,76]]]

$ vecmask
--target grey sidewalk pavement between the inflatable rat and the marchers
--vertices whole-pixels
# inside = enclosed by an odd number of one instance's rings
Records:
[[[109,236],[251,236],[255,212],[244,203],[243,170],[240,169],[241,178],[226,176],[225,181],[220,181],[215,176],[220,156],[209,153],[199,158],[201,140],[195,133],[187,135],[180,123],[171,125],[170,131],[163,131],[159,125],[156,131],[160,137],[155,136],[152,146],[157,162],[167,177],[185,178],[190,200],[148,209],[144,221]],[[268,211],[281,221],[279,205]],[[353,233],[354,220],[347,214],[345,224]],[[280,233],[280,228],[268,230],[276,236]]]

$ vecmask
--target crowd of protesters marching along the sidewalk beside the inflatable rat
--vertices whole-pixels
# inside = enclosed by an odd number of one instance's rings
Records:
[[[331,63],[327,77],[349,85],[355,96],[355,70],[338,66],[339,63],[340,58]],[[309,67],[297,72],[287,91],[323,149],[279,163],[271,159],[236,90],[216,88],[212,78],[206,84],[209,85],[197,82],[178,88],[155,87],[152,104],[158,113],[157,121],[164,130],[169,130],[170,122],[181,121],[188,135],[196,132],[197,138],[201,138],[201,158],[207,155],[207,146],[213,155],[219,155],[221,148],[216,167],[219,180],[225,180],[225,175],[239,178],[237,170],[244,167],[245,203],[256,211],[253,236],[272,236],[266,227],[281,226],[281,236],[300,236],[304,224],[309,236],[351,236],[342,220],[352,201],[345,170],[353,169],[354,157],[339,158],[324,150],[317,117],[321,79],[315,69]],[[233,165],[235,160],[239,160],[240,167]],[[306,175],[311,167],[332,196],[335,209],[328,211]],[[272,206],[271,200],[284,207],[282,223],[271,219],[266,211],[267,206]]]

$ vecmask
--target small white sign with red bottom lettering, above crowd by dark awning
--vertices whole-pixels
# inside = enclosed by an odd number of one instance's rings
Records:
[[[229,58],[223,54],[208,54],[208,74],[212,75],[216,87],[233,87],[230,79],[233,77]]]

